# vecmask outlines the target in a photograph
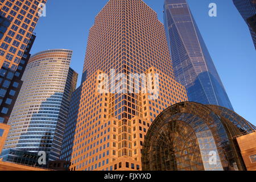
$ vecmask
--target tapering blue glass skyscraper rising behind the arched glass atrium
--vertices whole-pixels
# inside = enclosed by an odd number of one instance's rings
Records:
[[[188,100],[233,110],[186,0],[164,2],[164,26],[175,79],[187,89]]]

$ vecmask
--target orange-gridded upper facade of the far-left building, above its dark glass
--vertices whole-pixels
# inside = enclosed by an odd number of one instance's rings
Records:
[[[16,70],[38,22],[47,0],[0,2],[0,15],[9,19],[10,25],[1,28],[0,68]]]

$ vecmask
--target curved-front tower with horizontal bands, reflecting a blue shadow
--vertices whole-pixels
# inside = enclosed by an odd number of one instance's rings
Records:
[[[69,67],[71,57],[72,51],[66,49],[31,56],[8,122],[11,129],[3,151],[44,151],[47,160],[59,159],[69,101],[77,81],[77,73]]]

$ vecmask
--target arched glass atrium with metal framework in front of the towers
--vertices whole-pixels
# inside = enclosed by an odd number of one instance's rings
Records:
[[[236,139],[256,127],[220,106],[181,102],[152,123],[143,144],[144,171],[245,170]]]

